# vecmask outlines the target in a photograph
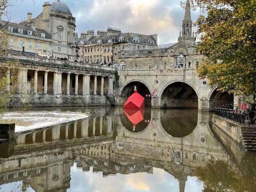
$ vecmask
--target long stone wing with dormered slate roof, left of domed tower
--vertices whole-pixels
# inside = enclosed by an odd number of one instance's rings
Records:
[[[53,40],[51,34],[35,26],[0,21],[9,32],[9,45],[14,54],[50,57]]]

